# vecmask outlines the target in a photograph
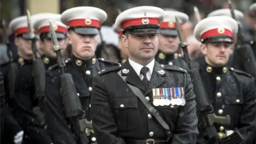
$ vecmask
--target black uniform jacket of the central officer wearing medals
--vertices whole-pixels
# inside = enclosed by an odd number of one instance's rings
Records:
[[[126,61],[122,67],[101,71],[99,77],[94,79],[91,110],[99,144],[123,144],[126,139],[167,139],[165,129],[149,115],[148,109],[117,74],[119,70],[122,70],[122,75],[127,76],[125,81],[138,87],[152,106],[154,88],[184,87],[185,106],[154,107],[174,134],[170,143],[195,143],[198,133],[196,103],[193,85],[186,70],[177,66],[160,65],[155,61],[149,86],[145,87],[129,61]]]

